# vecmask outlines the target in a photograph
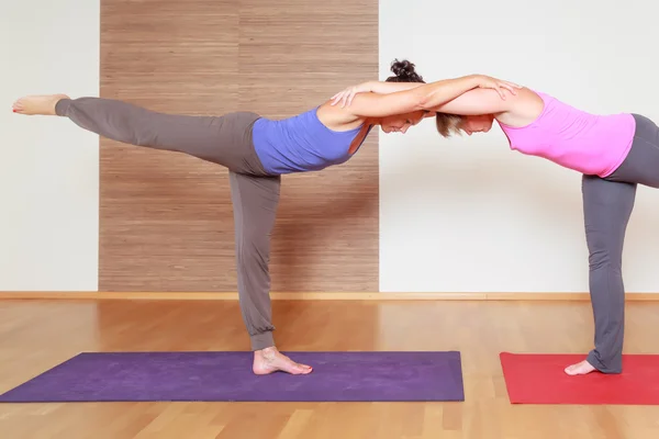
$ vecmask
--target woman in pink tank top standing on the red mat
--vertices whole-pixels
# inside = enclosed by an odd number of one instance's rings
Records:
[[[595,339],[585,359],[565,371],[619,373],[625,323],[623,245],[637,185],[659,188],[659,127],[639,114],[592,114],[528,88],[511,90],[502,91],[505,99],[501,99],[500,92],[473,88],[442,103],[426,97],[418,105],[437,112],[437,131],[444,137],[487,133],[496,121],[511,149],[582,173]],[[362,91],[364,86],[356,86],[336,100],[349,104]],[[433,105],[424,105],[431,101]]]

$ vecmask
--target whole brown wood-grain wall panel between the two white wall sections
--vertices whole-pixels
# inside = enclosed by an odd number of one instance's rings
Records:
[[[101,0],[101,97],[288,117],[378,77],[376,0]],[[272,291],[378,291],[378,151],[284,176]],[[101,139],[100,291],[236,291],[224,168]]]

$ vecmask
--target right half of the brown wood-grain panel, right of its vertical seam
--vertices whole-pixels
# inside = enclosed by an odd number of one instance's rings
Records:
[[[308,111],[377,78],[377,2],[242,0],[239,103],[269,117]],[[378,291],[378,150],[287,176],[275,226],[275,291]]]

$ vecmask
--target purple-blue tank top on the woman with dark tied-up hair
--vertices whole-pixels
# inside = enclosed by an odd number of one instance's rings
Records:
[[[254,147],[268,173],[317,171],[351,157],[348,149],[361,127],[330,130],[316,111],[317,108],[279,121],[261,117],[254,123]]]

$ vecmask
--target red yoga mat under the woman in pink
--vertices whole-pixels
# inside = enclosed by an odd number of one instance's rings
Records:
[[[583,354],[501,352],[512,404],[659,405],[659,356],[625,354],[623,373],[570,376]]]

